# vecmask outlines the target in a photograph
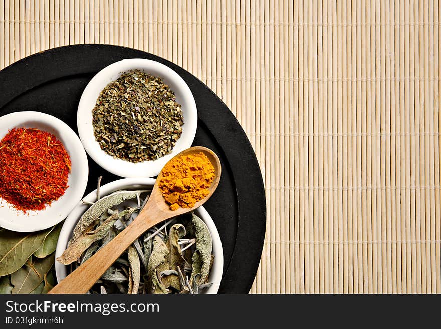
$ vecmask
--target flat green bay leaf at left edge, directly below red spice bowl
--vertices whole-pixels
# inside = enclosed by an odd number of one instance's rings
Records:
[[[0,276],[17,271],[37,251],[51,231],[20,233],[6,229],[0,231]]]

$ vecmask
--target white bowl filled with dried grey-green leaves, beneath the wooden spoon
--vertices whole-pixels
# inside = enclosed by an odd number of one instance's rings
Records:
[[[155,183],[125,178],[99,186],[67,217],[55,252],[58,282],[137,216]],[[217,293],[223,272],[219,233],[208,212],[158,224],[138,238],[103,274],[90,293]]]

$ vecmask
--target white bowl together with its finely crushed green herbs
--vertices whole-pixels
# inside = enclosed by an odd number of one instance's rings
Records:
[[[86,152],[101,167],[122,177],[153,177],[191,146],[196,103],[185,81],[168,66],[125,59],[88,83],[77,126]]]

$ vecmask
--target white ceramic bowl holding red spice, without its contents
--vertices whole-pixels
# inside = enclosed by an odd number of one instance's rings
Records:
[[[67,124],[46,113],[26,111],[0,117],[0,139],[12,128],[37,128],[55,135],[69,153],[72,171],[64,195],[46,209],[24,214],[0,199],[0,226],[18,232],[34,232],[54,226],[66,218],[84,195],[89,175],[86,152]]]

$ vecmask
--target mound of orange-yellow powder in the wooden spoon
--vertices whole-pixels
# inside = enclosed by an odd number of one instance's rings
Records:
[[[171,210],[194,207],[208,194],[214,167],[202,152],[171,159],[162,169],[159,188]]]

